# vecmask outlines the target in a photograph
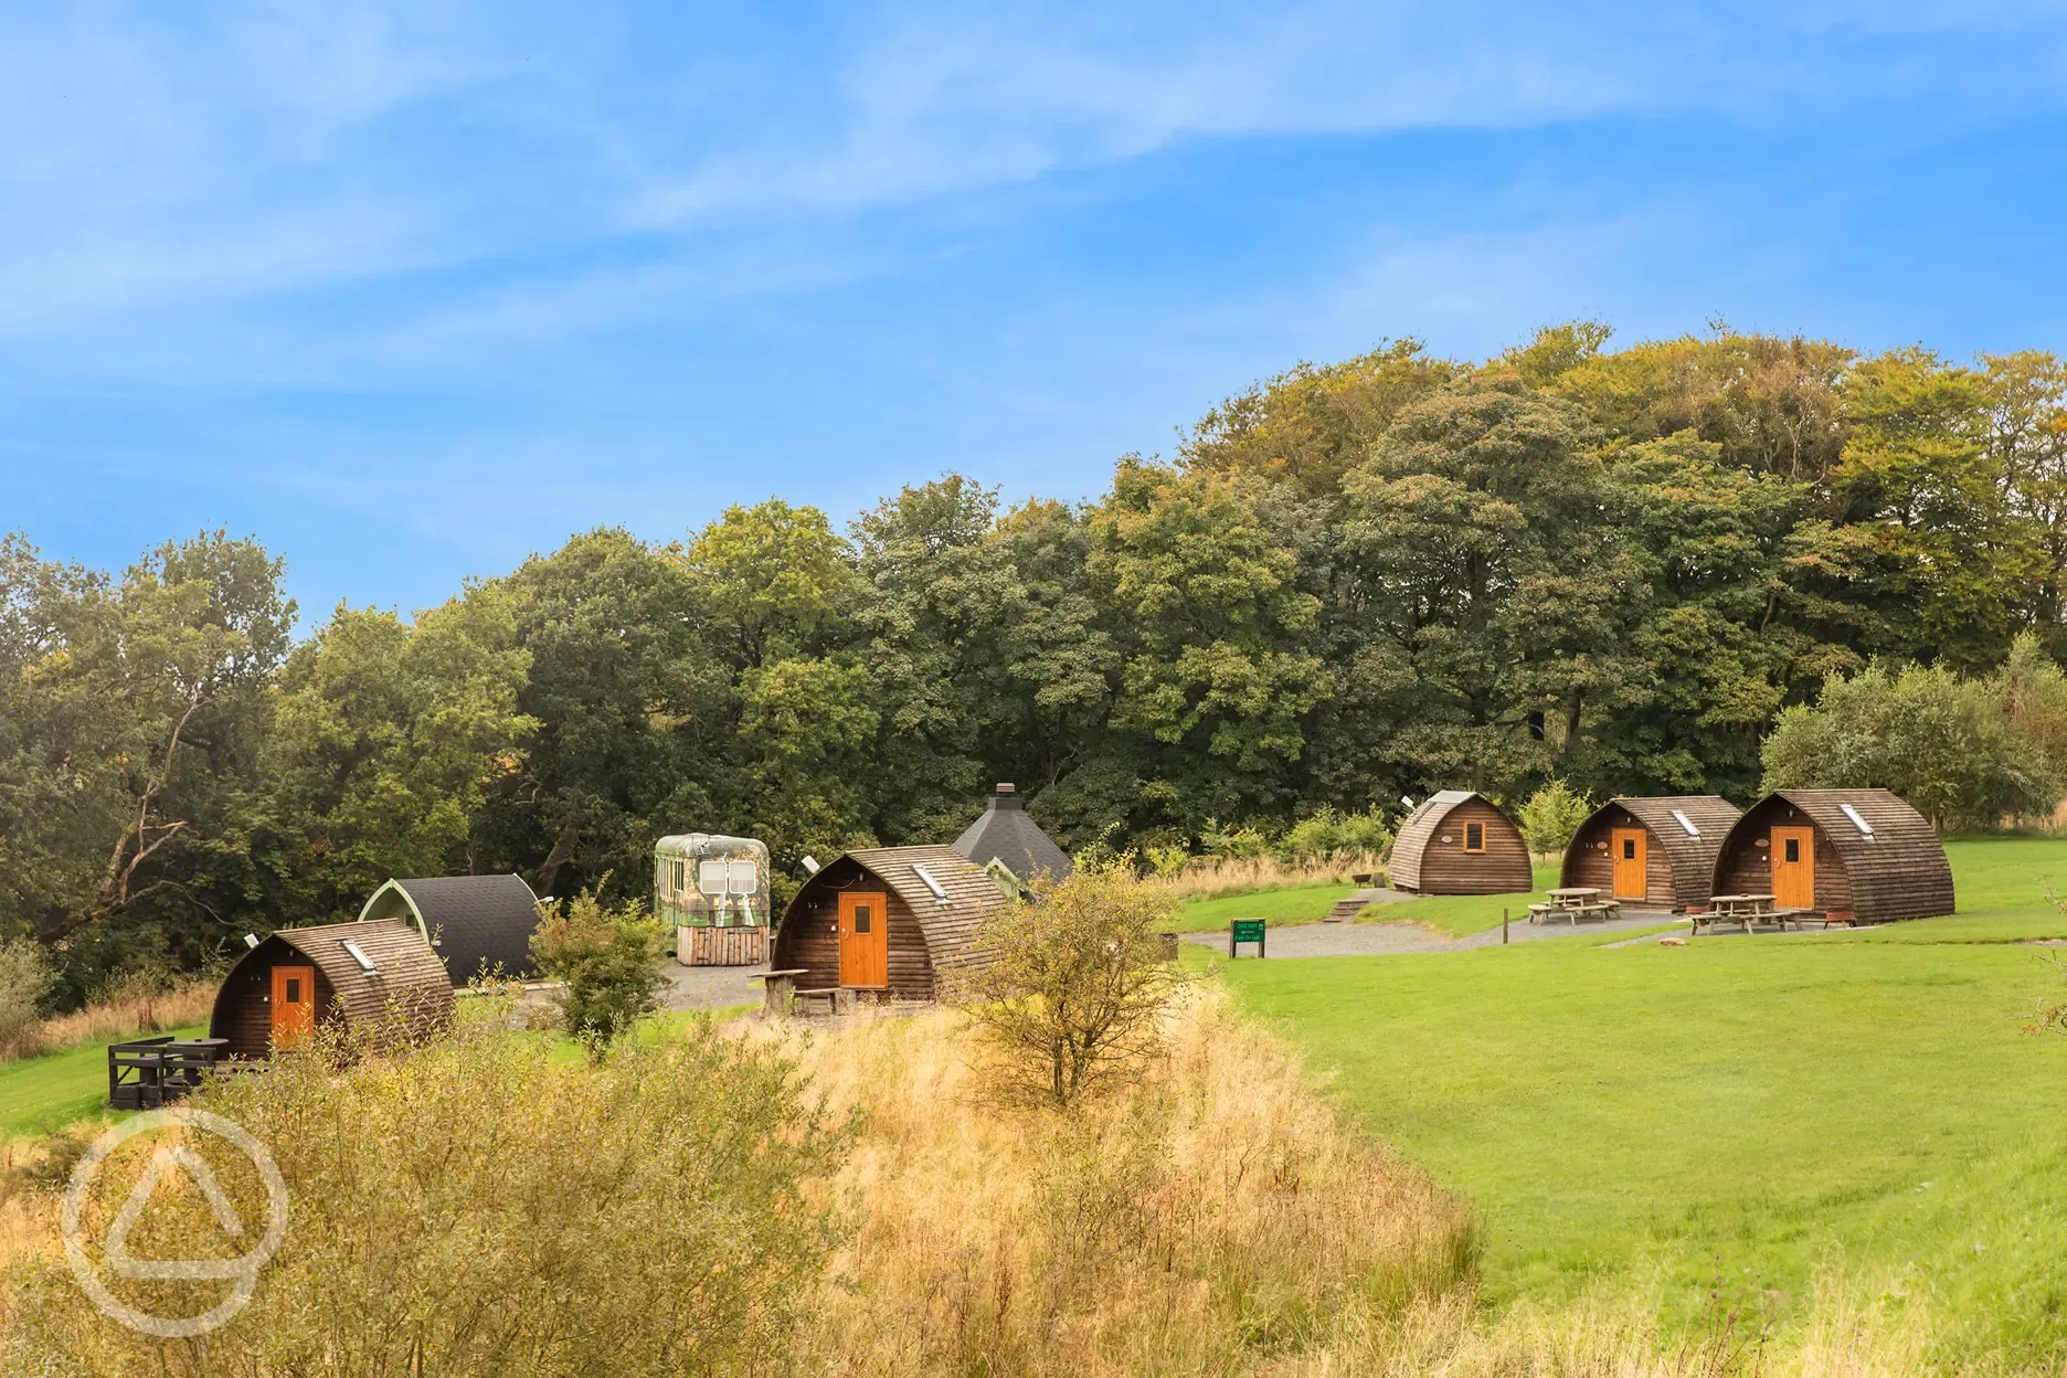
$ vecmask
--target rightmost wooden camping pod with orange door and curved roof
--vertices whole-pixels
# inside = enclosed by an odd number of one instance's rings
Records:
[[[1924,816],[1885,789],[1780,789],[1716,857],[1716,895],[1771,895],[1833,923],[1953,913],[1951,864]]]

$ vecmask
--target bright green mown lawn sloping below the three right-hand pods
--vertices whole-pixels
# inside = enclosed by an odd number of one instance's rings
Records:
[[[1222,975],[1478,1200],[1497,1299],[1604,1279],[1680,1320],[1718,1291],[1786,1320],[1838,1271],[2032,1357],[2067,1345],[2067,1037],[2022,1029],[2067,981],[2011,940],[2067,934],[2067,843],[1947,851],[1953,919]]]

